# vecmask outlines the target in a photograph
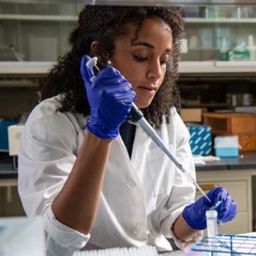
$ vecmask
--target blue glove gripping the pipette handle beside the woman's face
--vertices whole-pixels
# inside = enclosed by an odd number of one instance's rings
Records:
[[[114,139],[120,125],[129,115],[136,94],[123,75],[110,65],[103,67],[91,82],[94,72],[86,67],[89,59],[89,56],[83,56],[80,64],[80,73],[91,106],[86,128],[99,138]]]

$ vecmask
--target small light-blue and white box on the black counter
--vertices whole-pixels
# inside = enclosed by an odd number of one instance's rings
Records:
[[[238,157],[238,136],[217,136],[214,138],[214,148],[217,157]]]

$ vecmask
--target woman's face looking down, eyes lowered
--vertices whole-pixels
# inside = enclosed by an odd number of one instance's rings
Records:
[[[129,33],[116,39],[110,61],[137,94],[135,104],[146,108],[151,104],[165,77],[170,59],[173,37],[170,27],[160,18],[148,18],[135,37],[136,25],[129,25]]]

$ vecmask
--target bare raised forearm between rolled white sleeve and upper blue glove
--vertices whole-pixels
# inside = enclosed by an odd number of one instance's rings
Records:
[[[86,132],[75,165],[53,201],[56,218],[80,233],[88,234],[94,224],[110,145],[110,139]]]

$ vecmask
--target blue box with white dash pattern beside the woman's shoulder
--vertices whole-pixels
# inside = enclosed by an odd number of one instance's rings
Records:
[[[199,125],[187,127],[190,133],[189,145],[193,155],[208,156],[211,154],[211,127]]]

